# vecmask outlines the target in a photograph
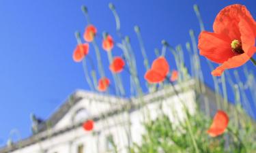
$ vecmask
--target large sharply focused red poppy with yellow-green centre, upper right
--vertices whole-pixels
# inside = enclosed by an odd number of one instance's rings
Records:
[[[200,54],[219,67],[212,75],[220,76],[225,69],[240,67],[256,52],[256,22],[244,5],[229,5],[218,13],[213,24],[214,33],[199,35]]]

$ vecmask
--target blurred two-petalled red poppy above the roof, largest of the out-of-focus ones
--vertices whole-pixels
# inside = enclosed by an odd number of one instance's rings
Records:
[[[154,60],[151,69],[145,73],[144,78],[147,82],[159,83],[165,80],[168,73],[169,65],[165,57],[159,57]]]

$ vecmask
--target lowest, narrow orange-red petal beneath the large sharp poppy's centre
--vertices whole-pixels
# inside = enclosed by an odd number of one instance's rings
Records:
[[[256,48],[253,46],[251,47],[248,52],[255,52]],[[232,69],[235,67],[240,67],[241,65],[244,65],[248,60],[250,60],[250,56],[248,54],[243,53],[237,56],[233,56],[232,58],[229,58],[229,60],[225,61],[221,66],[217,67],[212,71],[212,75],[214,76],[221,76],[223,71],[225,69]]]

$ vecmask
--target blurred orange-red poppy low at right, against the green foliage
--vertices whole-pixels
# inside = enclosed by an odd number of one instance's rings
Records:
[[[229,124],[229,116],[225,112],[218,110],[207,133],[212,137],[221,135],[225,132],[227,124]]]

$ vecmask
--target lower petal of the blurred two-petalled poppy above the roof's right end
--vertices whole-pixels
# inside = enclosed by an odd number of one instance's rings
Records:
[[[154,71],[153,69],[148,70],[144,75],[145,80],[147,82],[154,84],[159,83],[165,80],[165,75],[160,75],[158,71]]]

